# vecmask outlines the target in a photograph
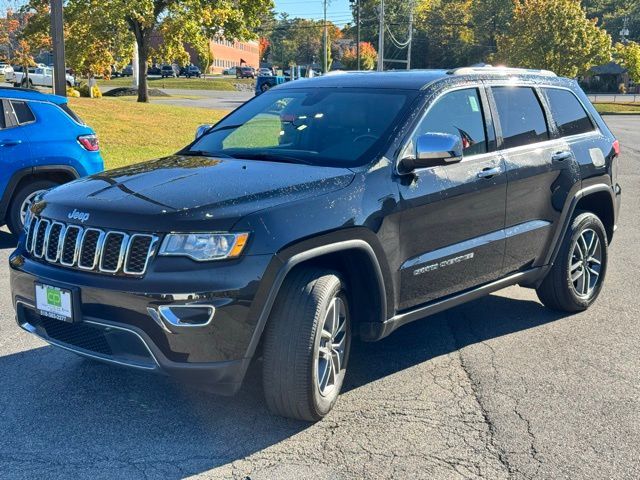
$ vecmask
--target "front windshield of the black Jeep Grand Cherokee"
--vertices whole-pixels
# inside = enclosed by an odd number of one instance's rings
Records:
[[[373,160],[415,91],[275,89],[248,102],[182,153],[352,167]]]

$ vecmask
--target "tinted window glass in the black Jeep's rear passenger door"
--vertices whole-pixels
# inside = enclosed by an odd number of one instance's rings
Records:
[[[502,148],[520,147],[549,139],[549,129],[533,88],[492,87],[502,127]]]

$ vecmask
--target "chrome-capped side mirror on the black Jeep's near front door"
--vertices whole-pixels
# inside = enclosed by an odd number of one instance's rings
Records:
[[[447,165],[462,160],[462,140],[448,133],[425,133],[416,139],[415,158],[400,161],[404,172]]]

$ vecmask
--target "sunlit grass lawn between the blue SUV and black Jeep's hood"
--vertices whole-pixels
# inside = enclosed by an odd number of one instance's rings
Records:
[[[198,125],[227,112],[135,103],[118,98],[71,98],[71,108],[97,133],[111,169],[175,153],[189,144]]]

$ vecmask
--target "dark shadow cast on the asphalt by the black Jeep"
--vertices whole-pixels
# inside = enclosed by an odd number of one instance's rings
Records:
[[[356,342],[345,388],[558,318],[535,302],[490,296],[405,326],[382,342]],[[9,475],[27,467],[54,476],[117,467],[134,477],[153,469],[183,478],[309,426],[268,413],[256,368],[236,397],[215,397],[47,346],[0,357],[0,382],[0,461]]]

